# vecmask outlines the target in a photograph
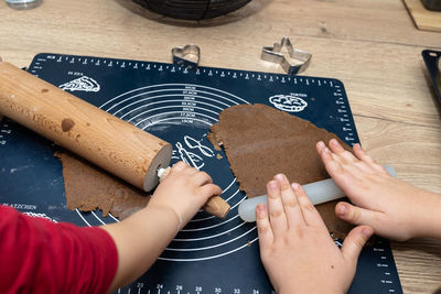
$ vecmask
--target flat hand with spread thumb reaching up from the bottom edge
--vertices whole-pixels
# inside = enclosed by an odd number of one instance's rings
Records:
[[[299,184],[277,175],[267,190],[269,216],[263,204],[256,215],[261,260],[276,292],[345,293],[373,229],[353,229],[340,250]]]

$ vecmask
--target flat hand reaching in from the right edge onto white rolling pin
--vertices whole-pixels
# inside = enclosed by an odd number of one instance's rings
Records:
[[[368,225],[375,233],[407,240],[435,237],[441,197],[390,176],[359,144],[355,156],[331,140],[329,148],[316,144],[327,173],[354,205],[338,203],[335,214],[355,225]]]

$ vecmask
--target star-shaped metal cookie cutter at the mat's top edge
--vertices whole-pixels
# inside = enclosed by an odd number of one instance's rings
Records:
[[[282,48],[288,51],[289,57],[281,53]],[[262,47],[260,55],[262,61],[280,64],[288,75],[304,72],[310,65],[311,57],[311,53],[294,48],[287,36],[280,43],[275,43],[272,47]]]

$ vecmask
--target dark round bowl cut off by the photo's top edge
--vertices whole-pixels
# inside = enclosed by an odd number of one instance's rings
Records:
[[[251,0],[133,0],[157,13],[181,20],[203,20],[235,11]]]

